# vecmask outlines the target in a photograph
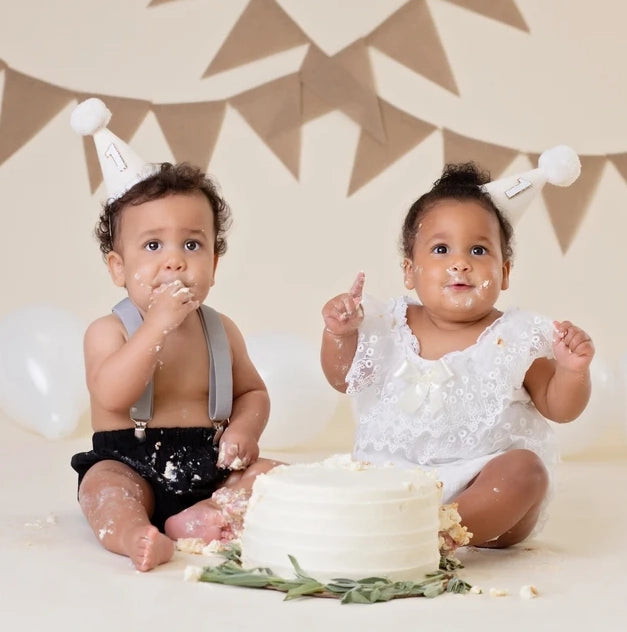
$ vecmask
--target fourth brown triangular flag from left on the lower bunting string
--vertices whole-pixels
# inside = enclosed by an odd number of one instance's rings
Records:
[[[229,99],[296,178],[300,170],[300,94],[295,73]]]

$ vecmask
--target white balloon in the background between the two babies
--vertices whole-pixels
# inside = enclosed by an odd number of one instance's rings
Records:
[[[287,333],[251,336],[246,344],[270,395],[270,419],[260,447],[292,448],[320,434],[339,394],[322,373],[319,347]]]

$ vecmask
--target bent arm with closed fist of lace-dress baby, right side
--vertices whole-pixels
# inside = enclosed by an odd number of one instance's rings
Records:
[[[569,321],[555,322],[555,360],[537,359],[527,371],[525,387],[536,408],[560,423],[576,419],[590,399],[590,336]]]

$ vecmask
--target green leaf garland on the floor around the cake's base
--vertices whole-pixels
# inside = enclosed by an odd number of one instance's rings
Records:
[[[471,585],[459,578],[455,571],[463,568],[455,558],[442,557],[437,571],[428,573],[420,582],[393,582],[385,577],[363,579],[333,579],[324,584],[307,575],[297,560],[289,555],[294,567],[295,578],[284,579],[274,575],[269,568],[242,568],[240,548],[232,543],[220,551],[226,561],[218,566],[205,566],[198,581],[244,586],[248,588],[269,588],[285,594],[285,600],[315,596],[339,599],[341,603],[376,603],[404,597],[437,597],[444,592],[465,593]]]

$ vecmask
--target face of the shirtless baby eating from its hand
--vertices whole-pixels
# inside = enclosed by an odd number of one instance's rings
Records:
[[[122,210],[107,264],[116,285],[146,310],[153,290],[180,282],[201,303],[214,283],[213,210],[202,193],[174,194]]]

